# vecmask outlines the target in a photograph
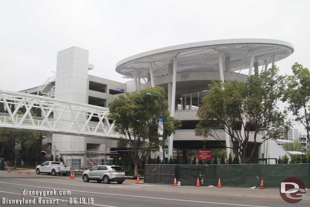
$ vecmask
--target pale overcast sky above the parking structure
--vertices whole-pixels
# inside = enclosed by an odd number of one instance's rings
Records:
[[[0,1],[0,89],[41,85],[56,70],[57,52],[89,50],[89,74],[126,82],[115,64],[176,44],[230,38],[290,42],[294,53],[276,62],[291,74],[310,67],[310,1]],[[299,127],[302,129],[302,127]]]

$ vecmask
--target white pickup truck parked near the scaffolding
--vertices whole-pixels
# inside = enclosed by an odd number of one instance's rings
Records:
[[[66,176],[70,173],[70,167],[64,166],[62,162],[47,161],[36,167],[36,173],[47,173],[48,175],[63,174]]]

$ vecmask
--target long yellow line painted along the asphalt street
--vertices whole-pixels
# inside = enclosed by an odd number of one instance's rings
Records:
[[[34,181],[29,179],[22,179],[22,178],[13,178],[16,180],[26,180],[32,182],[44,182],[44,181]],[[82,186],[82,187],[98,187],[98,188],[108,188],[108,187],[101,187],[101,186],[89,186],[89,185],[78,185],[78,184],[69,184],[69,183],[60,183],[60,182],[44,182],[44,183],[54,183],[54,184],[62,184],[62,185],[72,185],[72,186]],[[237,194],[219,194],[219,193],[198,193],[198,192],[182,192],[182,191],[163,191],[163,190],[150,190],[150,189],[135,189],[135,188],[124,188],[118,187],[117,189],[124,189],[124,190],[135,190],[135,191],[154,191],[154,192],[167,192],[167,193],[184,193],[184,194],[197,194],[197,195],[209,195],[209,196],[233,196],[233,197],[249,197],[249,198],[271,198],[271,199],[282,199],[281,196],[255,196],[255,195],[237,195]],[[310,197],[306,197],[310,198]],[[303,200],[310,200],[304,198]]]

